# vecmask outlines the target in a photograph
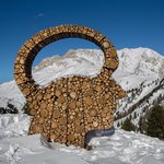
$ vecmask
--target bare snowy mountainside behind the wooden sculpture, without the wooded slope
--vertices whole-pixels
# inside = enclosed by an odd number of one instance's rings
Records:
[[[164,57],[148,48],[118,50],[120,65],[114,72],[114,79],[126,90],[139,87],[164,77]],[[70,50],[63,57],[54,56],[44,59],[33,69],[33,77],[40,85],[66,74],[96,75],[103,66],[104,56],[96,49]],[[87,68],[87,69],[86,69]],[[25,99],[14,81],[0,85],[0,107],[13,104],[21,109]]]

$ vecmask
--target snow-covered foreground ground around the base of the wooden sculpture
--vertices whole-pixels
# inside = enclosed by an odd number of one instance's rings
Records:
[[[116,130],[93,138],[93,150],[48,143],[40,134],[27,136],[27,115],[0,116],[0,164],[164,164],[164,142]]]

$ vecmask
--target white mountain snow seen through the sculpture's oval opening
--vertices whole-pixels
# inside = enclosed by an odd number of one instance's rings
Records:
[[[101,50],[78,49],[69,50],[65,57],[56,60],[54,63],[47,59],[44,60],[43,67],[37,67],[33,71],[34,80],[42,86],[48,85],[49,82],[66,75],[90,75],[95,77],[103,66],[104,55]],[[50,63],[49,63],[50,62]],[[87,69],[86,69],[87,68]]]

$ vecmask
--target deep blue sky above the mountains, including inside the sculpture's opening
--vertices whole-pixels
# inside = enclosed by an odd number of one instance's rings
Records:
[[[14,60],[26,39],[60,24],[99,31],[117,49],[147,47],[164,55],[163,0],[0,0],[0,83],[13,80]],[[45,47],[33,66],[78,48],[98,47],[62,39]]]

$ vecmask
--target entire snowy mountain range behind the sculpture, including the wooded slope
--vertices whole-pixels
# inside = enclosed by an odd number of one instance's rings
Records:
[[[149,48],[125,48],[118,50],[119,67],[113,78],[125,89],[128,96],[118,102],[115,118],[119,125],[132,117],[139,128],[139,120],[156,103],[162,103],[164,96],[164,57]],[[34,80],[43,87],[57,78],[67,74],[94,77],[104,62],[102,50],[77,49],[69,50],[65,56],[52,56],[43,59],[33,68]],[[87,69],[86,69],[87,68]],[[0,108],[14,105],[19,112],[25,99],[14,81],[0,85]]]

